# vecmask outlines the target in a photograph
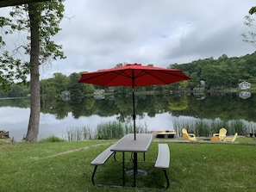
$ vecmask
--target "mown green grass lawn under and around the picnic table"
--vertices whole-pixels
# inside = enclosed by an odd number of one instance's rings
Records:
[[[139,168],[147,170],[148,175],[137,177],[137,186],[165,186],[163,171],[153,168],[160,142],[168,143],[171,151],[168,191],[255,191],[256,140],[237,140],[238,143],[153,141],[146,154],[147,162],[142,162],[139,154]],[[115,141],[0,143],[0,191],[140,191],[92,185],[91,161]],[[117,158],[121,160],[122,154]],[[126,158],[131,158],[128,153]],[[126,164],[126,170],[132,167],[132,163]],[[122,162],[110,157],[98,167],[95,180],[121,185]],[[126,185],[133,185],[133,177],[126,176]]]

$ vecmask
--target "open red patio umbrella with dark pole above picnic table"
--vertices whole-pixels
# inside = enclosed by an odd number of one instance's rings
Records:
[[[136,139],[134,87],[153,84],[172,84],[178,81],[188,80],[183,71],[165,69],[150,65],[128,64],[111,69],[84,72],[79,83],[97,84],[100,86],[130,86],[133,88],[133,120],[134,139]]]

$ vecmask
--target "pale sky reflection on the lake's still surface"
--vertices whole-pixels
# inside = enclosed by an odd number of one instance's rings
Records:
[[[16,141],[24,138],[28,128],[29,108],[0,108],[0,125],[1,130],[9,131],[10,138],[14,137]],[[66,138],[67,131],[71,128],[90,127],[95,131],[98,124],[116,121],[119,115],[103,117],[91,115],[88,117],[81,116],[75,119],[72,113],[68,113],[64,119],[58,120],[55,115],[41,113],[40,131],[38,139],[44,139],[55,135],[59,138]],[[132,120],[127,120],[131,124]],[[172,116],[168,113],[150,117],[146,113],[143,118],[137,118],[136,125],[147,127],[147,130],[172,130]]]

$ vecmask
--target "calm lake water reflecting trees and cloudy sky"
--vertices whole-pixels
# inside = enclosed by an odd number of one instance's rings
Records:
[[[173,130],[177,122],[221,119],[243,120],[251,129],[256,122],[256,97],[250,93],[244,95],[244,98],[239,93],[136,96],[136,125],[149,131]],[[108,121],[133,123],[131,96],[87,98],[75,103],[47,101],[41,106],[38,139],[52,135],[66,138],[67,131],[73,128],[90,127],[94,131],[98,124]],[[9,131],[16,141],[22,140],[27,133],[29,114],[28,99],[1,99],[0,130]]]

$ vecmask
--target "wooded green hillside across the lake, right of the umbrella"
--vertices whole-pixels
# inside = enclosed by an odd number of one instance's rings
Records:
[[[186,64],[173,64],[169,68],[183,70],[191,80],[188,86],[193,89],[205,81],[207,88],[222,85],[226,88],[237,87],[241,81],[255,82],[256,53],[241,57],[228,58],[223,54],[218,59],[198,59]]]

